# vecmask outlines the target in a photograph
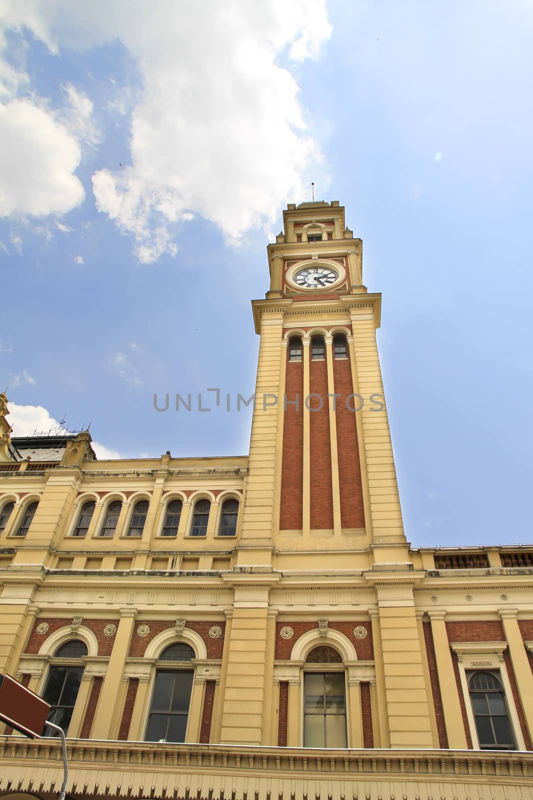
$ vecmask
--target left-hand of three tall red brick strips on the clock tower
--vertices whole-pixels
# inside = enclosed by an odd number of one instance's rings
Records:
[[[288,361],[285,375],[287,401],[296,394],[300,403],[287,406],[283,427],[283,466],[281,467],[280,530],[301,530],[304,491],[304,362]]]

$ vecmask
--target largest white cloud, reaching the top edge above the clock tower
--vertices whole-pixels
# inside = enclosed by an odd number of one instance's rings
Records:
[[[52,52],[120,39],[137,60],[129,166],[97,170],[93,192],[98,210],[133,236],[139,261],[175,254],[173,224],[191,212],[237,244],[250,227],[268,227],[281,203],[306,196],[308,170],[320,172],[298,86],[279,59],[316,58],[331,34],[324,0],[152,0],[149,15],[141,0],[5,6],[6,26],[27,26]],[[88,114],[87,100],[77,93],[71,104]]]

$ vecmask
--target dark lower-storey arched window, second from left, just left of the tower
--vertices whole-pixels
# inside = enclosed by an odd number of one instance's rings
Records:
[[[185,642],[165,648],[159,661],[189,662],[196,657]],[[194,670],[157,670],[146,729],[147,742],[185,742]]]

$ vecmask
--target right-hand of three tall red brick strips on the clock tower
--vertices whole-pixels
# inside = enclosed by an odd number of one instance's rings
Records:
[[[364,528],[363,485],[357,442],[356,413],[346,407],[346,398],[353,392],[349,358],[333,359],[336,398],[337,459],[340,478],[340,525],[343,528]],[[351,408],[360,401],[352,398]]]

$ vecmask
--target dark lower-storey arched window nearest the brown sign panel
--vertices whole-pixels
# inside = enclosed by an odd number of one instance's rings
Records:
[[[55,725],[62,728],[65,734],[69,730],[76,698],[82,683],[85,665],[81,659],[85,655],[87,655],[86,644],[80,642],[79,639],[73,639],[59,646],[54,653],[54,658],[69,658],[74,663],[50,666],[45,690],[42,694],[43,700],[50,705],[48,721],[54,722]],[[43,735],[57,736],[58,734],[45,726]]]

